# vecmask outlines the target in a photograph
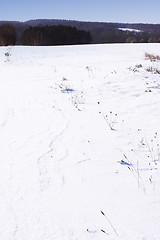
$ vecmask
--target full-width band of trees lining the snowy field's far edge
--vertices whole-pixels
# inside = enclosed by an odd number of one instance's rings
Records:
[[[96,25],[95,25],[96,26]],[[116,26],[94,31],[67,25],[28,26],[21,34],[9,23],[0,25],[0,46],[7,45],[74,45],[90,43],[160,43],[160,32],[122,31]]]

